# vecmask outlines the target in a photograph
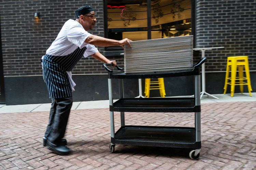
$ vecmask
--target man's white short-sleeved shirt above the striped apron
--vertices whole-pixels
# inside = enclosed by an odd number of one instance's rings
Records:
[[[79,22],[69,19],[61,28],[57,38],[48,48],[46,54],[65,56],[74,52],[77,47],[82,49],[84,46],[87,47],[84,52],[85,57],[95,54],[98,52],[98,49],[94,45],[84,42],[90,35]]]

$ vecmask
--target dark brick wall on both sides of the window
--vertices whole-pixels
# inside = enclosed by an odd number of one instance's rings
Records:
[[[1,0],[4,76],[42,75],[41,56],[62,25],[74,19],[74,11],[85,4],[93,6],[97,16],[97,25],[90,33],[104,36],[102,0]],[[196,0],[195,8],[196,48],[225,47],[206,51],[206,71],[225,71],[227,57],[238,55],[248,55],[250,70],[256,70],[255,0]],[[34,19],[35,12],[40,13],[40,20]],[[122,67],[122,57],[108,58]],[[92,57],[82,58],[73,69],[73,74],[98,73],[106,72]]]

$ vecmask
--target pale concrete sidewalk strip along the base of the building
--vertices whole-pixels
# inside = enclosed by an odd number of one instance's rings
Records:
[[[250,102],[256,101],[256,92],[252,93],[250,97],[249,93],[234,94],[234,97],[230,97],[230,94],[217,94],[214,95],[219,99],[213,99],[204,95],[201,99],[202,103],[214,103],[214,102]],[[114,100],[116,101],[116,100]],[[1,105],[0,113],[14,113],[14,112],[43,112],[50,111],[51,103],[45,104],[26,104],[26,105]],[[73,102],[71,110],[77,109],[93,109],[93,108],[109,108],[109,100],[100,101],[87,101],[87,102]]]

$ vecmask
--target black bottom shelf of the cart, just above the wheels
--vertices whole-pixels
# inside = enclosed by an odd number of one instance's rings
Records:
[[[161,126],[124,126],[111,138],[111,143],[136,146],[155,146],[200,149],[195,128]]]

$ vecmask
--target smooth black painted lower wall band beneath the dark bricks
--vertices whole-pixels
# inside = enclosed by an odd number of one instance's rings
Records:
[[[251,72],[251,83],[253,91],[256,90],[256,72]],[[225,72],[206,73],[206,91],[209,94],[223,94]],[[96,101],[109,100],[108,75],[73,75],[73,80],[77,84],[73,92],[73,100]],[[186,96],[194,94],[194,79],[192,76],[165,78],[166,97]],[[38,104],[51,103],[48,96],[47,87],[42,76],[25,77],[5,77],[6,84],[6,104]],[[112,79],[114,99],[119,98],[118,80]],[[144,95],[145,80],[142,79],[142,92]],[[7,86],[8,85],[8,86]],[[239,93],[239,86],[236,86],[235,93]],[[244,92],[248,88],[244,86]],[[150,97],[160,97],[158,90],[151,90]],[[228,86],[227,94],[230,94]],[[139,95],[138,80],[124,80],[125,98],[133,98]]]

